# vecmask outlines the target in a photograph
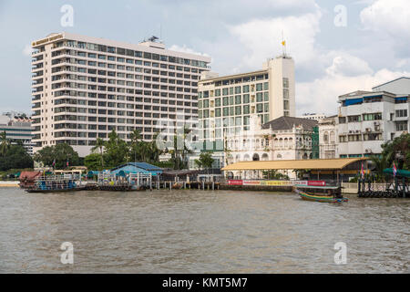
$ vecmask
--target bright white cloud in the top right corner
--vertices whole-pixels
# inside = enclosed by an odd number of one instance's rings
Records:
[[[410,36],[408,0],[377,0],[362,10],[360,18],[367,29],[398,37]]]

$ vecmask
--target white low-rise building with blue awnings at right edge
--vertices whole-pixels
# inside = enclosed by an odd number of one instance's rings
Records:
[[[339,97],[337,157],[379,154],[384,142],[408,132],[410,78],[398,78],[373,90]]]

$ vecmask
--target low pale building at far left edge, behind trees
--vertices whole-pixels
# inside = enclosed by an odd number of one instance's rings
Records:
[[[5,112],[0,115],[0,132],[5,132],[5,138],[12,144],[21,142],[27,153],[33,154],[32,120],[17,112]]]

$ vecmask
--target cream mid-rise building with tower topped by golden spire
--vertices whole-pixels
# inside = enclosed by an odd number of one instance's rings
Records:
[[[261,70],[219,77],[204,72],[199,81],[200,149],[223,151],[228,136],[251,129],[251,115],[261,123],[295,115],[292,57],[268,59]]]

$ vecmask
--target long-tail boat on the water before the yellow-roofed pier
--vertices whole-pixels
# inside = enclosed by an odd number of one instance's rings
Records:
[[[302,200],[326,203],[343,203],[347,198],[343,198],[340,186],[313,186],[296,184],[296,193]]]

